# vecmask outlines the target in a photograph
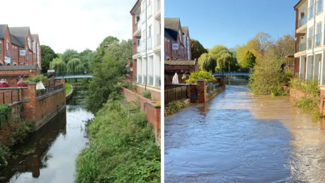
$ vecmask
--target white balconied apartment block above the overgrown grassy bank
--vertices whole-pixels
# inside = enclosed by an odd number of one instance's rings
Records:
[[[133,15],[133,60],[135,82],[160,92],[161,1],[139,0]]]

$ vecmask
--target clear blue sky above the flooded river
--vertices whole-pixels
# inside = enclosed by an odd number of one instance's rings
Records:
[[[190,38],[206,48],[247,43],[259,32],[295,34],[299,0],[165,0],[165,17],[179,17]]]

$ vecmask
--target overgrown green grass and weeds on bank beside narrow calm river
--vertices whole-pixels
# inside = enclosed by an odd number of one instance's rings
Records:
[[[160,148],[139,105],[109,100],[87,132],[91,143],[76,160],[75,182],[160,182]]]

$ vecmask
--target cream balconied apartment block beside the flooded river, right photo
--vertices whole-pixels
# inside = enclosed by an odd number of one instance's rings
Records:
[[[296,10],[295,75],[325,84],[324,0],[301,0]]]

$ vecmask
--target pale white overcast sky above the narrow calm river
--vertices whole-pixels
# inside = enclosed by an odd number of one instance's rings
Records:
[[[29,26],[55,52],[95,50],[107,36],[132,38],[136,0],[16,0],[2,2],[0,24]],[[14,8],[10,8],[14,7]]]

